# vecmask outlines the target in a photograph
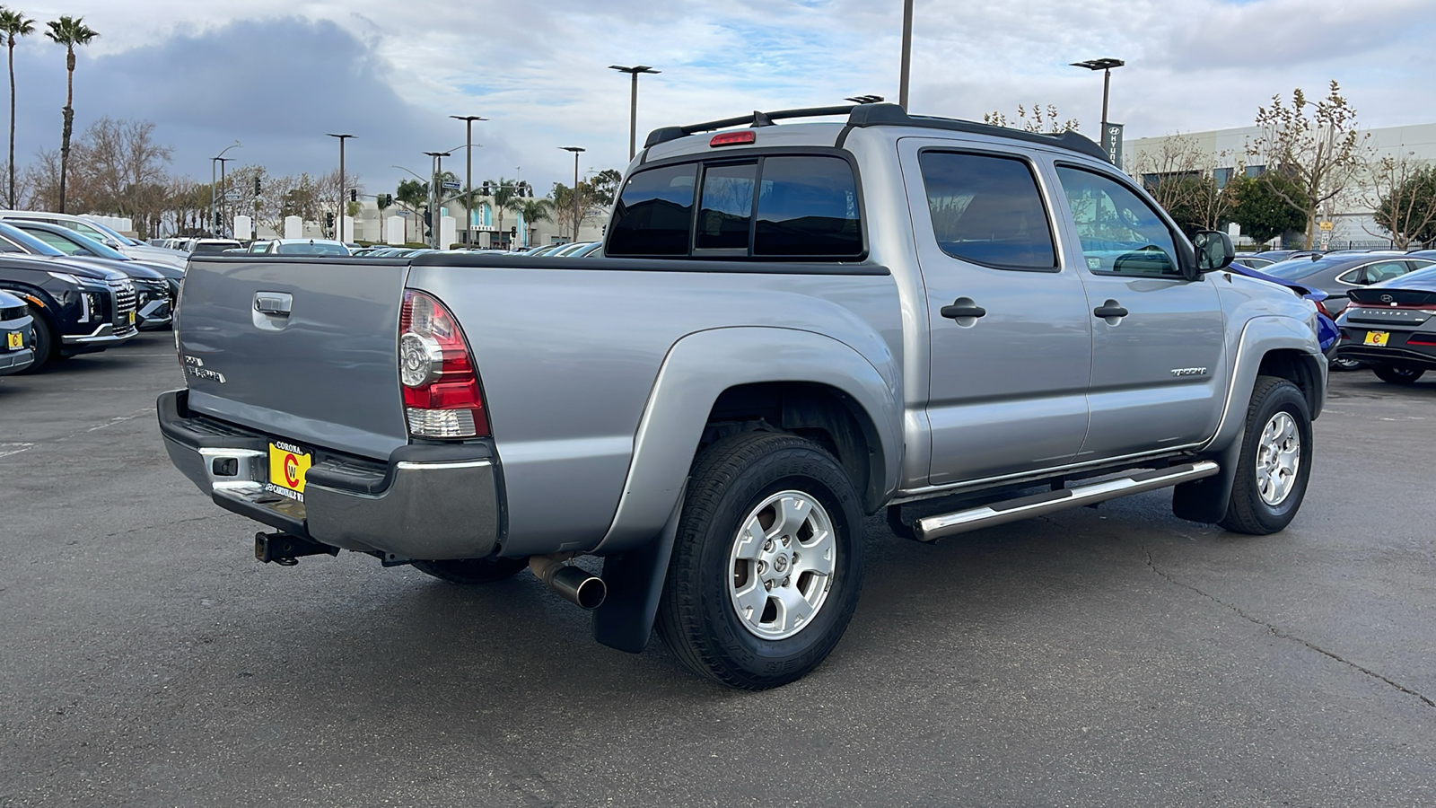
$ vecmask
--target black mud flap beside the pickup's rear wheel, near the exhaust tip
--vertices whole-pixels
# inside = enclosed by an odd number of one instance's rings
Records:
[[[668,561],[673,555],[673,536],[678,535],[678,518],[682,512],[684,497],[679,496],[658,538],[638,549],[603,559],[603,582],[609,587],[609,597],[593,611],[593,638],[599,643],[630,654],[643,653],[648,637],[653,633],[658,601],[663,597]]]

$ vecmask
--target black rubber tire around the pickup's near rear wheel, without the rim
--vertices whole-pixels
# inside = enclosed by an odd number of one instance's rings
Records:
[[[764,638],[740,617],[729,591],[729,585],[740,585],[732,554],[750,516],[761,520],[767,512],[758,510],[760,506],[787,492],[804,495],[820,506],[808,513],[821,513],[831,525],[836,558],[827,578],[798,572],[791,582],[798,597],[820,598],[816,612],[793,628],[791,635]],[[814,541],[811,533],[806,538]],[[796,552],[804,535],[794,531],[791,545],[778,541]],[[863,513],[857,492],[831,454],[791,434],[742,433],[724,439],[701,451],[692,466],[658,608],[659,637],[684,664],[729,687],[765,690],[794,681],[817,667],[847,630],[863,587],[862,554]],[[757,562],[737,564],[763,569]],[[783,565],[774,559],[767,569],[770,575],[784,568],[796,571],[797,564],[797,558]],[[819,582],[824,594],[814,595]],[[788,587],[790,581],[784,578],[777,585]],[[777,600],[774,595],[773,601]],[[771,607],[764,600],[757,620],[763,621]]]

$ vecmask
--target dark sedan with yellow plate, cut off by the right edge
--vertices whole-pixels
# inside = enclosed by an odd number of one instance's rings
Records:
[[[1412,384],[1436,368],[1436,266],[1347,292],[1338,357],[1371,367],[1390,384]]]

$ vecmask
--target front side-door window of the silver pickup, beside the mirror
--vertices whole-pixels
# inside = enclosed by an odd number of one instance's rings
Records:
[[[1058,167],[1087,269],[1103,275],[1180,277],[1176,242],[1157,211],[1126,185]]]

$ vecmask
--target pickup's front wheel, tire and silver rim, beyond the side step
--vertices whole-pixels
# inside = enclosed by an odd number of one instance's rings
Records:
[[[1311,408],[1295,384],[1256,377],[1236,463],[1232,499],[1218,523],[1258,536],[1290,525],[1311,477]]]

